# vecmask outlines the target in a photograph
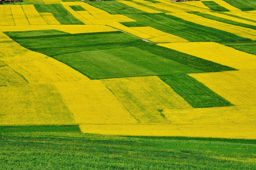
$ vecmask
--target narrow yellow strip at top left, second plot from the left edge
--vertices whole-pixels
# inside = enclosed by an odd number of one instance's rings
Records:
[[[12,5],[11,6],[11,14],[12,14],[12,17],[14,19],[16,26],[29,25],[26,15],[25,15],[21,5]]]

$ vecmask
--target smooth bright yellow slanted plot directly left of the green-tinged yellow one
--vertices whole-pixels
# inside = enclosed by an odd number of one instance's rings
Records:
[[[99,80],[56,82],[78,124],[130,124],[137,121]]]

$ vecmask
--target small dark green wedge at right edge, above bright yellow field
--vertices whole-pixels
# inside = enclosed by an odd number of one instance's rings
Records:
[[[223,42],[223,45],[256,55],[256,42]]]

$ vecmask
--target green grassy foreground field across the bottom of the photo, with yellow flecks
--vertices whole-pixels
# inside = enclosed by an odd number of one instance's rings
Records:
[[[69,128],[72,133],[66,133]],[[76,127],[29,129],[17,133],[1,127],[1,170],[256,169],[253,140],[102,136],[78,133]]]

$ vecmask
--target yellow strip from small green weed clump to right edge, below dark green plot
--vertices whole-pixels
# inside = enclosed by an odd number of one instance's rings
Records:
[[[256,125],[256,106],[164,110],[171,125]]]

